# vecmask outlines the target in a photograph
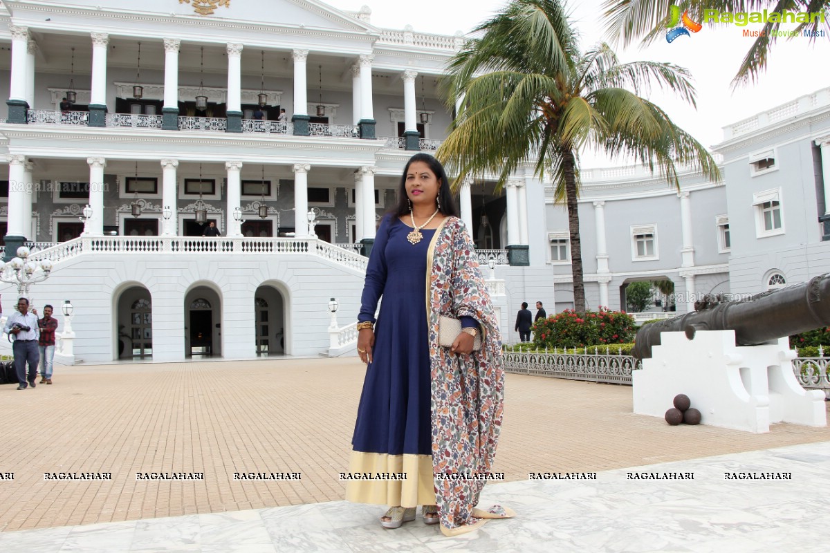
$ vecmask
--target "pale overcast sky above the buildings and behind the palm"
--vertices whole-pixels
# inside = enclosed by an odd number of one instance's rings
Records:
[[[368,5],[372,9],[371,22],[378,27],[402,29],[410,24],[417,32],[447,35],[457,30],[469,32],[506,3],[505,0],[418,0],[413,4],[399,0],[324,1],[348,11],[358,11]],[[598,15],[602,3],[602,0],[569,2],[573,20],[582,35],[583,49],[603,38]],[[830,86],[830,27],[827,27],[825,35],[828,36],[819,37],[813,44],[803,36],[779,39],[759,83],[731,90],[732,77],[754,40],[741,36],[741,29],[760,27],[761,24],[718,29],[704,26],[701,32],[680,36],[671,44],[661,40],[627,51],[617,46],[618,54],[623,61],[667,61],[691,71],[698,91],[696,111],[669,95],[654,92],[650,99],[666,109],[676,124],[710,147],[723,140],[721,128],[725,125]],[[589,166],[614,163],[590,155],[583,162]]]

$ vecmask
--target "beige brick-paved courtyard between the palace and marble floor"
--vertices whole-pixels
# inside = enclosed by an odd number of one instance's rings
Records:
[[[363,373],[354,358],[201,361],[58,367],[54,386],[0,386],[0,473],[14,473],[0,479],[0,530],[338,501]],[[791,424],[670,427],[632,415],[627,386],[508,375],[506,394],[497,469],[517,483],[830,440]],[[301,477],[234,478],[251,472]]]

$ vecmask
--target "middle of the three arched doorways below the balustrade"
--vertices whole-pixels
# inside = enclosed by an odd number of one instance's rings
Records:
[[[216,290],[195,286],[184,296],[185,357],[222,355],[222,304]]]

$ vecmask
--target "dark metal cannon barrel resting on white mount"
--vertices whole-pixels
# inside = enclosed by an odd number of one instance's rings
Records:
[[[652,347],[660,345],[662,332],[686,332],[691,339],[698,330],[734,330],[736,345],[754,346],[826,326],[830,326],[830,273],[749,299],[719,303],[644,325],[637,332],[632,356],[652,357]]]

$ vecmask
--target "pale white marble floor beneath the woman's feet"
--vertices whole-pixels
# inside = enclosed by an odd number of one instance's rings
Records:
[[[828,551],[830,442],[595,474],[492,484],[482,503],[516,518],[454,538],[420,517],[385,530],[381,507],[325,502],[2,532],[0,551]],[[672,474],[686,478],[646,479]]]

